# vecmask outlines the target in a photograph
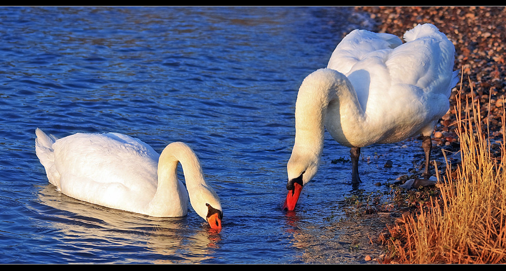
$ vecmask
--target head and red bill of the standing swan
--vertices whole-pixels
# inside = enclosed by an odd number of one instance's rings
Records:
[[[293,151],[286,166],[288,172],[288,183],[286,189],[288,194],[282,209],[292,211],[297,205],[302,188],[309,183],[316,175],[320,159],[318,155],[301,155]]]

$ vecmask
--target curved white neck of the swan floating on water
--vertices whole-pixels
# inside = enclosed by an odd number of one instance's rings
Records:
[[[181,142],[171,143],[158,158],[158,187],[150,203],[151,208],[181,208],[181,212],[186,214],[188,195],[178,180],[179,163],[183,168],[188,191],[192,191],[191,187],[205,183],[200,162],[193,150]],[[178,203],[180,206],[177,206]]]

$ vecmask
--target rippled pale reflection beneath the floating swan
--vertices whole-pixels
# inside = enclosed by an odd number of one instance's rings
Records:
[[[94,255],[103,258],[110,253],[110,262],[113,252],[121,250],[124,254],[130,251],[132,259],[139,253],[156,254],[153,263],[199,263],[213,258],[221,242],[220,234],[197,215],[156,218],[112,209],[66,196],[52,184],[40,188],[38,200],[45,207],[37,211],[43,212],[48,226],[60,232],[55,236],[60,235],[56,239],[61,243],[53,247],[86,254],[91,261],[100,262]]]

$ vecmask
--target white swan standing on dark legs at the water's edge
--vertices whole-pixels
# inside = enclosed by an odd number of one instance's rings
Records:
[[[354,30],[335,48],[326,69],[308,75],[299,89],[296,136],[287,164],[289,190],[283,209],[293,210],[315,175],[324,127],[351,147],[352,183],[360,182],[360,147],[423,136],[429,175],[431,134],[448,111],[455,47],[431,24],[395,35]]]

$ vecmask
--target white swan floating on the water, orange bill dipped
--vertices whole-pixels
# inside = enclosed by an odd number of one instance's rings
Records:
[[[221,229],[220,198],[204,180],[193,150],[174,142],[159,155],[151,146],[117,133],[74,134],[61,139],[35,130],[35,152],[49,182],[70,197],[159,217],[184,216],[188,197],[211,228]],[[181,162],[186,191],[178,180]],[[189,196],[188,196],[189,195]]]

